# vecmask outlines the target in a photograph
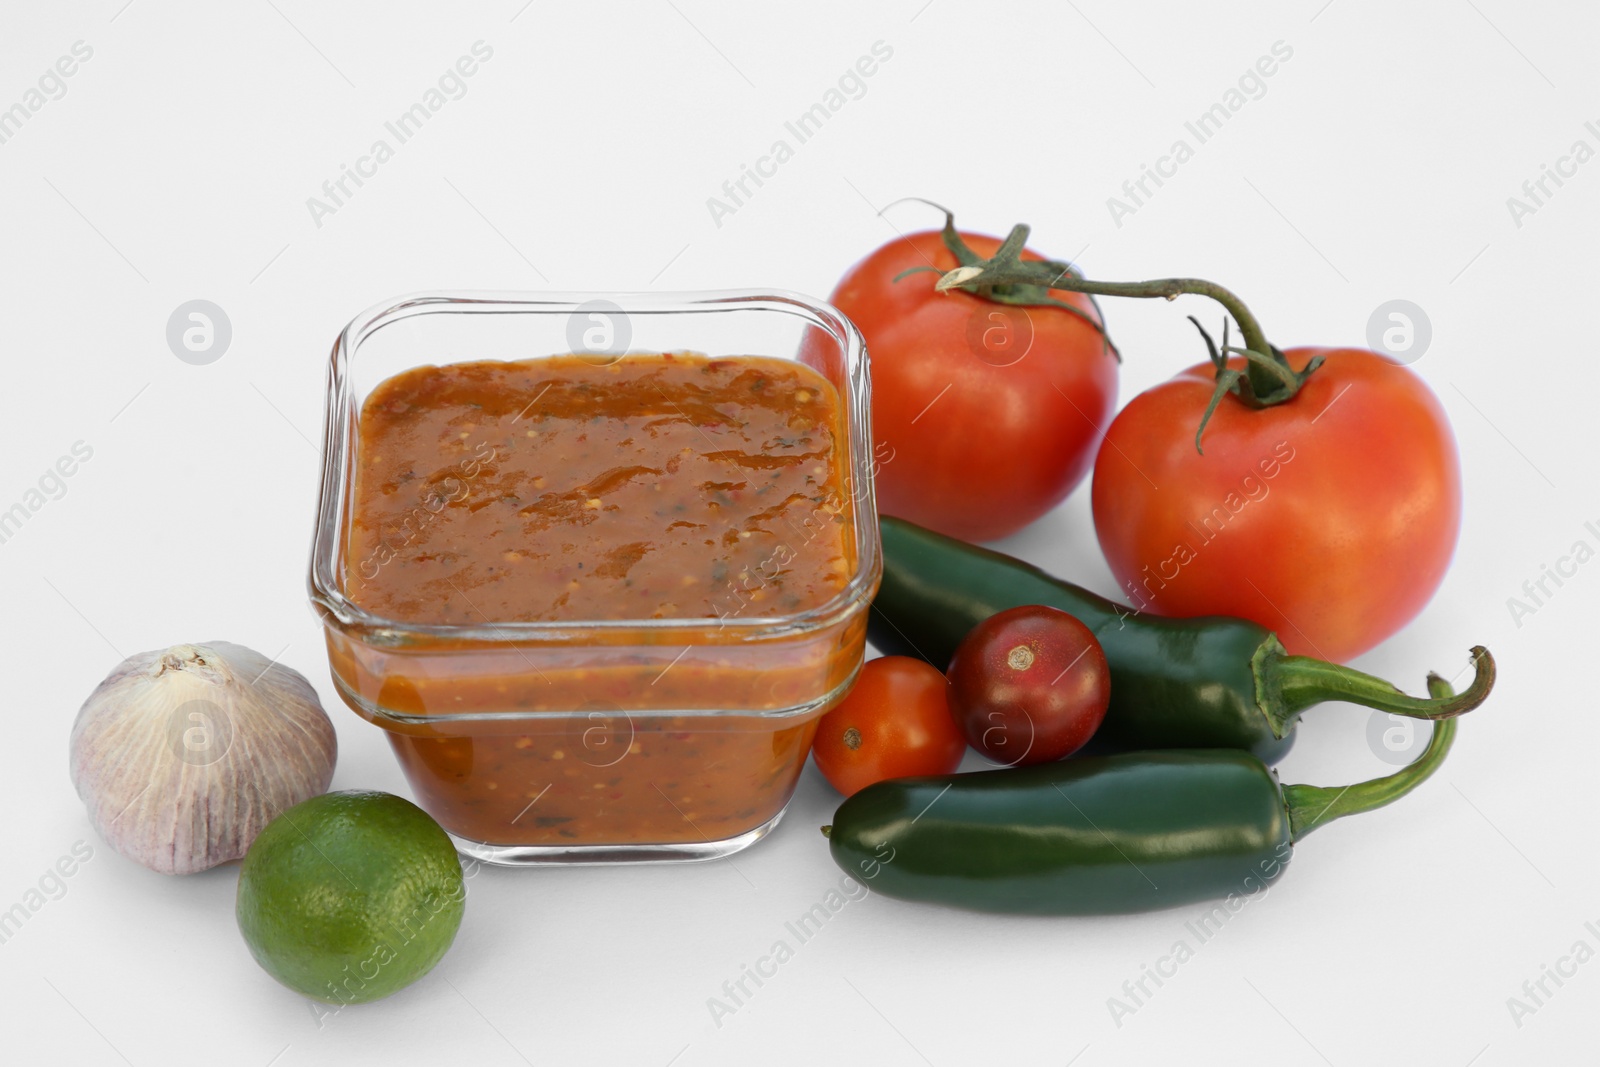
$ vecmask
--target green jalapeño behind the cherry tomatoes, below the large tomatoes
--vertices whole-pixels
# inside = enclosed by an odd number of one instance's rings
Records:
[[[1413,718],[1450,718],[1483,702],[1494,659],[1474,648],[1477,675],[1450,699],[1406,696],[1381,678],[1312,656],[1290,656],[1262,625],[1226,616],[1141,614],[1000,552],[885,517],[883,584],[867,637],[885,654],[944,670],[955,646],[989,616],[1048,605],[1094,632],[1110,665],[1110,707],[1099,750],[1245,749],[1277,763],[1301,712],[1349,701]]]

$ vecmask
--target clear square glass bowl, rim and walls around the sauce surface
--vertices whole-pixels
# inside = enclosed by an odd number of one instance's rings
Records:
[[[469,360],[798,360],[802,349],[838,392],[834,432],[846,450],[835,507],[854,565],[827,603],[461,625],[386,619],[350,598],[362,405],[384,379]],[[816,720],[864,657],[882,571],[867,390],[850,320],[782,291],[427,293],[346,326],[328,374],[310,600],[339,694],[384,729],[418,803],[461,853],[507,865],[712,859],[778,824]]]

